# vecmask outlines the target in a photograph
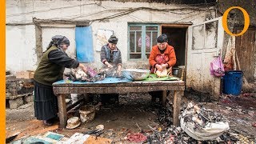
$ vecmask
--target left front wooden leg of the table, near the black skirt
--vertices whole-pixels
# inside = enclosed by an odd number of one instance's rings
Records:
[[[58,118],[61,128],[66,127],[66,100],[65,100],[65,94],[58,94]]]

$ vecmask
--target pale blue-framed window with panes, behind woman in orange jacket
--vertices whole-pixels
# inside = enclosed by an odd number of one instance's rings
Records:
[[[128,40],[128,58],[145,60],[150,57],[150,50],[157,42],[158,25],[130,24]]]

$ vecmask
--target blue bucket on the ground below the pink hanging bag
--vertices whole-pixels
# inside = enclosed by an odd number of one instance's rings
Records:
[[[223,76],[223,93],[239,95],[242,90],[242,71],[230,70],[226,71]]]

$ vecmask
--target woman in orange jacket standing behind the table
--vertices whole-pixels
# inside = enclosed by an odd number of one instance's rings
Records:
[[[167,42],[166,34],[161,34],[157,39],[157,45],[152,47],[149,58],[151,73],[154,73],[155,70],[171,69],[175,65],[176,55],[174,47],[168,45]],[[162,91],[150,91],[149,94],[152,96],[151,102],[155,102],[156,98],[159,98],[159,102],[162,101]]]

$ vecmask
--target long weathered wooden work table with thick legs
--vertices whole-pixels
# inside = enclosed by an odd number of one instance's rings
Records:
[[[166,90],[174,91],[173,120],[178,126],[178,114],[180,113],[181,99],[184,95],[185,82],[183,81],[154,81],[154,82],[124,82],[124,83],[54,83],[54,94],[58,97],[58,116],[60,127],[66,127],[66,94],[110,94],[110,93],[140,93],[162,90],[162,103],[166,104]],[[171,93],[170,93],[171,94]],[[168,95],[168,99],[171,95]]]

